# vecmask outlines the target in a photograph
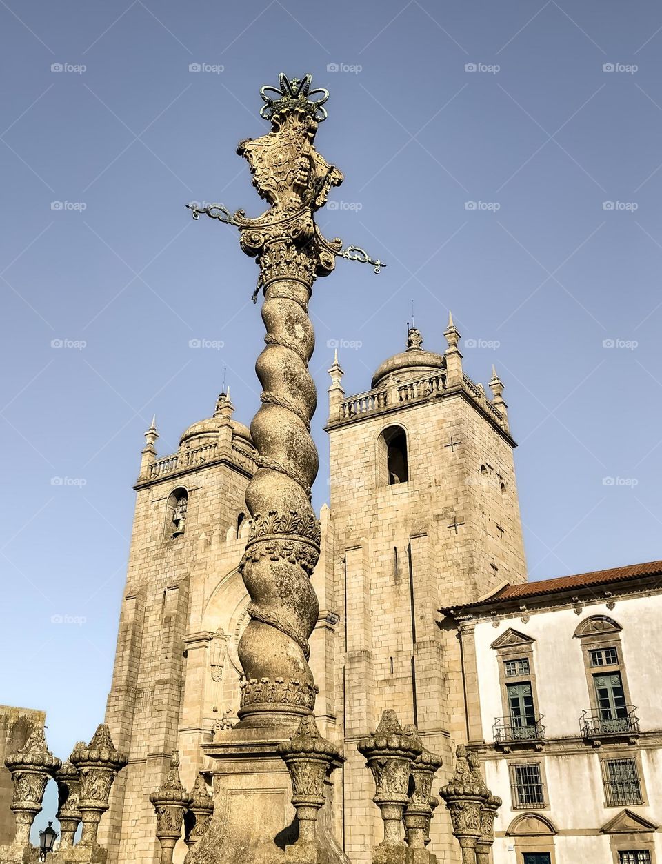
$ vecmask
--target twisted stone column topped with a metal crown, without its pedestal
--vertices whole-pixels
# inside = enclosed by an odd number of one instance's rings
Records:
[[[251,532],[239,564],[251,597],[239,641],[240,727],[295,726],[315,706],[308,640],[319,611],[310,575],[320,556],[320,527],[310,505],[318,461],[310,437],[316,393],[308,304],[316,277],[334,270],[336,256],[370,262],[376,272],[383,266],[356,247],[342,250],[340,239],[324,238],[315,225],[315,212],[343,179],[314,146],[328,91],[312,90],[310,75],[281,73],[278,83],[260,91],[260,114],[271,131],[238,148],[270,208],[249,219],[223,205],[188,205],[194,219],[207,213],[239,228],[242,250],[259,266],[254,299],[264,293],[266,347],[256,365],[262,406],[251,422],[258,470],[246,488]]]

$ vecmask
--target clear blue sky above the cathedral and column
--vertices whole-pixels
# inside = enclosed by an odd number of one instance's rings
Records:
[[[360,342],[364,391],[413,298],[426,346],[450,307],[468,374],[506,384],[531,577],[662,557],[661,27],[614,0],[0,0],[0,702],[45,708],[56,753],[104,714],[152,413],[173,452],[224,367],[236,416],[258,407],[257,268],[184,204],[261,212],[234,150],[280,71],[331,92],[322,230],[388,263],[316,286],[315,505],[328,340]]]

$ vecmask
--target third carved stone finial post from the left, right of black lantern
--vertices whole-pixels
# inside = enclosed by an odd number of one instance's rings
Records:
[[[99,820],[108,810],[111,785],[128,759],[115,749],[105,723],[99,724],[89,744],[79,741],[69,759],[80,777],[79,810],[83,820],[80,846],[95,847]]]

